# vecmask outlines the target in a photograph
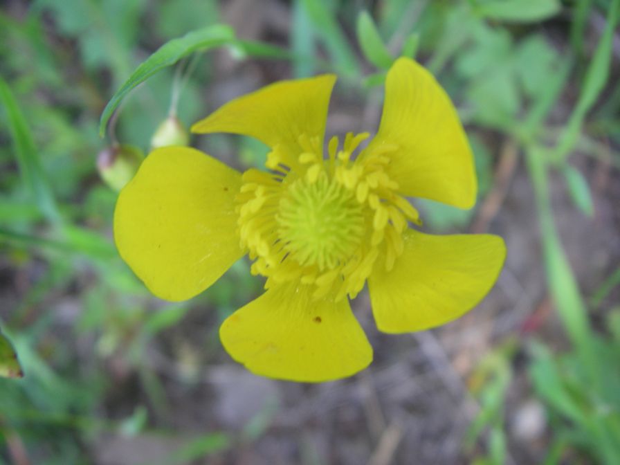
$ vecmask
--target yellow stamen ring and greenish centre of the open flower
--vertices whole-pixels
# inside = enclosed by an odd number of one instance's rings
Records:
[[[255,260],[252,272],[268,278],[266,288],[300,280],[316,286],[315,298],[354,298],[380,256],[386,269],[394,266],[403,230],[408,221],[419,224],[419,215],[385,172],[385,154],[397,147],[363,149],[351,160],[367,136],[347,134],[340,150],[332,138],[327,159],[318,138],[302,136],[296,158],[276,146],[267,157],[271,172],[243,174],[241,247]]]

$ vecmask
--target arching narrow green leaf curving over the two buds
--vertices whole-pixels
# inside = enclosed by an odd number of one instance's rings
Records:
[[[101,114],[99,124],[99,135],[103,136],[107,127],[107,122],[111,118],[114,110],[118,107],[123,98],[135,89],[138,84],[145,82],[152,75],[161,71],[167,66],[172,66],[181,58],[197,51],[205,51],[224,44],[231,44],[235,41],[235,33],[229,26],[217,24],[203,29],[193,30],[183,37],[172,39],[158,48],[150,57],[145,60],[134,73],[131,73],[125,84],[112,95]]]

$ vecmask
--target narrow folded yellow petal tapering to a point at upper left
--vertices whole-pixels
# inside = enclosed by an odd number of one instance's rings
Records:
[[[322,153],[323,136],[331,89],[335,75],[281,81],[243,95],[217,109],[192,126],[192,132],[229,132],[261,140],[269,147],[280,147],[286,163],[295,164],[308,152],[300,136],[317,138]]]

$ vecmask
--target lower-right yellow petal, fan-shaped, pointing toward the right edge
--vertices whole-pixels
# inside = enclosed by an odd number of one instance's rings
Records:
[[[407,230],[394,268],[368,279],[372,312],[385,333],[421,331],[459,318],[498,279],[506,246],[493,235],[435,236]]]

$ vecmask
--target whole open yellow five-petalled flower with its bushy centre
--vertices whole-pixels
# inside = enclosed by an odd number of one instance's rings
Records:
[[[277,82],[192,127],[262,140],[268,171],[241,174],[195,149],[165,147],[146,158],[116,206],[120,255],[163,299],[197,295],[249,253],[266,291],[226,319],[220,337],[264,376],[317,382],[367,367],[372,347],[348,301],[366,281],[381,331],[420,331],[480,302],[506,255],[497,236],[410,228],[420,221],[405,196],[475,203],[473,156],[435,78],[397,60],[376,136],[365,148],[366,133],[347,134],[342,145],[332,138],[324,157],[335,82]]]

